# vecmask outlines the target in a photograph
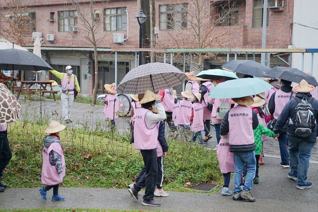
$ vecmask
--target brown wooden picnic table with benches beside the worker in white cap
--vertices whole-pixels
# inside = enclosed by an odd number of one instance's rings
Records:
[[[58,93],[59,91],[53,90],[52,81],[20,81],[20,83],[21,84],[18,90],[17,99],[19,98],[20,93],[27,93],[30,96],[31,93],[41,92],[42,93],[41,96],[43,96],[44,93],[52,93],[54,101],[56,101],[55,94]],[[37,89],[31,88],[32,85],[40,85],[40,88],[37,88]],[[51,87],[51,90],[47,90],[47,85]]]

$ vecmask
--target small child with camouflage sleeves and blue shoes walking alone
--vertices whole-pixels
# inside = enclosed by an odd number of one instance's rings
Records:
[[[42,165],[42,184],[40,195],[46,200],[46,192],[53,188],[52,201],[63,201],[65,197],[59,195],[59,184],[65,176],[65,159],[60,144],[59,132],[65,129],[65,125],[57,121],[51,121],[45,133],[49,133],[43,138],[43,165]]]

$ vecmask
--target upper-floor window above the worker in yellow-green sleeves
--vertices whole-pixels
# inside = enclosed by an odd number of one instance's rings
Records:
[[[77,11],[59,11],[59,32],[73,32],[77,30]]]

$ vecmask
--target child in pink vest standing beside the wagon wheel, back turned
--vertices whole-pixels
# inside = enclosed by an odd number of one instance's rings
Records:
[[[105,84],[105,90],[108,92],[106,99],[104,101],[105,108],[103,113],[105,114],[106,120],[111,120],[111,126],[115,125],[115,119],[118,119],[118,110],[119,110],[119,100],[117,98],[117,91],[115,86]]]

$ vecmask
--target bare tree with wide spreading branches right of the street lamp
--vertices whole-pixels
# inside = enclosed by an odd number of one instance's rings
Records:
[[[239,25],[240,0],[165,0],[160,5],[160,30],[169,41],[157,42],[159,48],[230,48],[238,41],[232,39]],[[222,30],[220,30],[220,26]],[[202,69],[205,59],[215,53],[198,52],[193,63]]]

